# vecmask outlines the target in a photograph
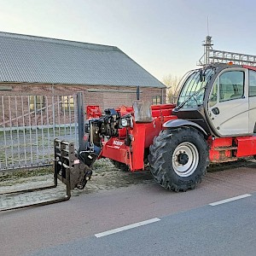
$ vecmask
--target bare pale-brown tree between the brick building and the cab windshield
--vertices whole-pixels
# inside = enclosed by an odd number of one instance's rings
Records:
[[[177,86],[180,80],[181,78],[173,76],[172,74],[168,74],[163,78],[162,82],[167,86],[166,102],[175,102],[178,92]]]

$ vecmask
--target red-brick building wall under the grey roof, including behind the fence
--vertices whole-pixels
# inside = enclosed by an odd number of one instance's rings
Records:
[[[136,87],[67,84],[1,84],[0,83],[0,128],[24,125],[49,125],[52,122],[64,124],[73,121],[73,115],[61,108],[61,96],[72,96],[83,91],[85,105],[99,105],[105,108],[131,106],[137,99]],[[166,90],[141,88],[140,99],[152,102],[154,96],[166,96]],[[28,96],[45,97],[44,111],[29,110]],[[52,97],[54,96],[54,97]],[[164,102],[166,97],[164,97]],[[55,105],[55,107],[53,107]]]

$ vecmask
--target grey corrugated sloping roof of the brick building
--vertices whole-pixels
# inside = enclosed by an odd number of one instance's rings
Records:
[[[0,32],[0,82],[165,88],[114,46]]]

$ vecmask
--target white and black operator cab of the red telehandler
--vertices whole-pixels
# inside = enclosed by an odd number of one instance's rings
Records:
[[[256,68],[213,65],[189,73],[174,111],[216,137],[256,132]]]

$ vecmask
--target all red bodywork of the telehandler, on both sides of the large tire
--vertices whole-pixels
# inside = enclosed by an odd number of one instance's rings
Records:
[[[119,129],[119,137],[111,137],[107,142],[102,141],[102,153],[99,158],[106,157],[130,166],[131,172],[144,169],[145,149],[153,143],[163,129],[162,125],[170,120],[177,119],[172,115],[174,104],[162,104],[151,106],[153,121],[150,123],[136,123],[130,128]],[[121,116],[127,113],[133,115],[133,108],[116,108]],[[87,118],[99,118],[102,116],[98,106],[86,108]],[[127,134],[131,135],[131,145],[125,145]],[[221,163],[237,160],[240,157],[256,155],[256,137],[208,137],[209,160],[212,163]],[[171,157],[171,156],[170,156]]]

